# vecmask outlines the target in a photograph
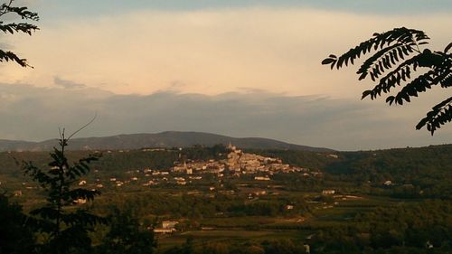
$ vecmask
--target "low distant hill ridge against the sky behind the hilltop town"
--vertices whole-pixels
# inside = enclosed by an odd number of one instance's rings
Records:
[[[194,145],[213,146],[231,144],[240,148],[291,149],[313,152],[328,152],[323,147],[300,146],[262,137],[231,137],[204,132],[165,131],[102,137],[80,137],[71,139],[70,150],[118,150],[144,147],[188,147]],[[42,142],[0,139],[0,151],[49,151],[57,146],[56,139]]]

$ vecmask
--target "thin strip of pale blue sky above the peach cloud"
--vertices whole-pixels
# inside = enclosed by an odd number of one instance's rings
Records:
[[[167,11],[187,11],[200,9],[219,8],[243,8],[252,6],[267,7],[311,7],[326,10],[342,10],[354,13],[365,14],[425,14],[425,13],[447,13],[452,4],[448,0],[435,0],[426,5],[425,0],[209,0],[209,1],[186,1],[186,0],[165,0],[165,1],[143,1],[143,0],[33,0],[27,1],[28,5],[43,5],[44,16],[57,16],[61,19],[68,16],[83,15],[93,16],[99,14],[119,14],[137,9],[154,9]],[[38,2],[38,3],[36,3]],[[40,3],[41,2],[41,3]],[[49,9],[51,5],[53,8]],[[56,8],[55,8],[56,7]],[[40,11],[41,12],[41,11]]]

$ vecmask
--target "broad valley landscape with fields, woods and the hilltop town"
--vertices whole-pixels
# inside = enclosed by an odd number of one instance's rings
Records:
[[[143,227],[155,230],[159,253],[183,248],[187,241],[198,249],[206,242],[233,249],[287,240],[294,248],[313,251],[330,248],[332,240],[354,242],[362,244],[353,247],[359,252],[379,240],[377,232],[386,231],[372,228],[374,220],[403,216],[385,224],[401,235],[405,229],[397,221],[420,220],[403,212],[427,209],[422,216],[450,220],[443,212],[451,207],[451,150],[429,146],[320,153],[218,145],[71,151],[69,157],[74,161],[102,154],[87,177],[75,183],[101,195],[74,208],[100,215],[112,207],[131,211]],[[29,211],[44,199],[42,188],[21,173],[23,160],[45,167],[48,158],[45,152],[0,154],[0,187]],[[416,223],[422,228],[438,221]],[[397,238],[390,239],[388,248],[398,246]]]

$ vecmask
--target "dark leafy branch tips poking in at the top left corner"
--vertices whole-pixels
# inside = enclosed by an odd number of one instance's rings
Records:
[[[36,13],[30,12],[27,7],[13,6],[14,0],[0,5],[0,18],[6,14],[14,14],[19,16],[22,20],[26,21],[38,21],[39,16]],[[28,33],[32,35],[33,32],[39,30],[38,26],[29,23],[4,23],[0,21],[0,31],[3,33]],[[4,51],[0,49],[0,61],[15,61],[22,67],[31,67],[28,65],[26,59],[20,58],[14,52]]]

